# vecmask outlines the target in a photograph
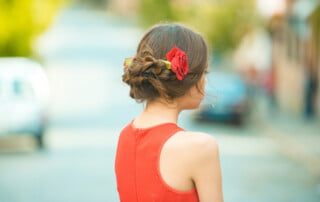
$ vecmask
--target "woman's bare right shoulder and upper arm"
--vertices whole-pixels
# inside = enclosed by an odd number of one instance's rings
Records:
[[[196,187],[200,201],[223,201],[217,140],[206,133],[178,132],[169,139],[166,157],[174,173]],[[180,166],[180,167],[179,167]]]

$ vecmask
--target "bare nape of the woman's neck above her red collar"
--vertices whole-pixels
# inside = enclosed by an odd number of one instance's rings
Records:
[[[177,123],[180,108],[176,103],[149,102],[144,111],[135,119],[138,127],[149,127],[161,123]]]

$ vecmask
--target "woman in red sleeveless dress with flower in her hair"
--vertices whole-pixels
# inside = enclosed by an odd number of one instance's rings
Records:
[[[122,202],[222,202],[218,145],[177,126],[204,97],[207,46],[178,24],[152,27],[126,58],[123,81],[143,112],[121,132],[115,172]]]

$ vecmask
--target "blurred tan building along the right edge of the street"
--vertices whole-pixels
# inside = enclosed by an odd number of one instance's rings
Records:
[[[320,2],[286,0],[269,22],[275,97],[289,114],[319,114]]]

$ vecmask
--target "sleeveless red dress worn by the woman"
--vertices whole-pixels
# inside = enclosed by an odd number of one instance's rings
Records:
[[[178,131],[174,123],[135,128],[131,122],[119,137],[115,160],[121,202],[196,202],[196,189],[179,191],[162,179],[159,169],[164,143]]]

